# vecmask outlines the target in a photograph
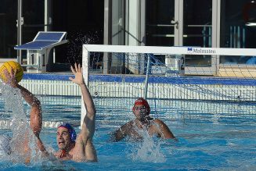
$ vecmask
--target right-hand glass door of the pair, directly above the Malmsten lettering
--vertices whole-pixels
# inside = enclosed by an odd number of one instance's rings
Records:
[[[211,48],[212,0],[183,3],[183,46]],[[211,66],[211,55],[186,55],[186,66]]]

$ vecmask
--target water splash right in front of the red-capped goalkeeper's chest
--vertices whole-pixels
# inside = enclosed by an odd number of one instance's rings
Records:
[[[136,127],[136,126],[135,126]],[[152,137],[148,130],[137,129],[142,141],[134,144],[132,149],[132,160],[141,162],[166,162],[164,154],[160,151],[161,141]]]

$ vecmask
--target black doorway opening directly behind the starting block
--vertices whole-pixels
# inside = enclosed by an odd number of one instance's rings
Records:
[[[56,48],[56,62],[81,63],[83,44],[103,44],[104,1],[52,1],[52,30],[66,31],[69,43]]]

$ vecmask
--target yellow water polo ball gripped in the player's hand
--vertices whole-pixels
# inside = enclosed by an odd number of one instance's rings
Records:
[[[14,62],[14,61],[4,62],[4,64],[2,64],[2,66],[0,67],[0,77],[4,82],[7,81],[7,79],[5,78],[4,70],[7,69],[8,72],[10,73],[12,68],[13,68],[13,71],[16,71],[15,78],[16,78],[16,82],[19,83],[23,77],[23,68],[22,66],[20,66],[18,62]]]

